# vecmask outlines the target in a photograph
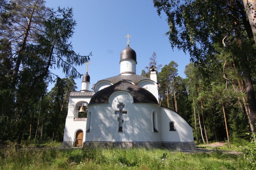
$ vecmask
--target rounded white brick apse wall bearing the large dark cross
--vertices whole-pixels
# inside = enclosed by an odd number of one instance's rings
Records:
[[[123,110],[127,110],[127,115],[123,115],[123,132],[118,132],[118,115],[115,115],[119,103],[123,103]],[[161,142],[160,131],[152,132],[153,109],[159,114],[158,105],[133,103],[129,93],[117,91],[111,95],[110,104],[94,104],[88,107],[88,112],[92,113],[92,121],[90,132],[86,133],[86,141]]]

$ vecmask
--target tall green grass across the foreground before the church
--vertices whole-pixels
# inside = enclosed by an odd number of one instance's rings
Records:
[[[145,148],[0,149],[0,169],[250,169],[242,155]]]

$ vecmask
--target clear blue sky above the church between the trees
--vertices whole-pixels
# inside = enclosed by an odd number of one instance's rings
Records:
[[[158,64],[164,66],[175,61],[179,65],[178,75],[186,78],[184,69],[189,64],[189,55],[171,48],[164,36],[169,30],[166,16],[158,16],[151,0],[46,0],[45,6],[73,8],[77,22],[71,39],[73,48],[81,55],[92,52],[88,70],[90,89],[98,80],[120,74],[120,52],[127,46],[127,34],[132,36],[130,47],[137,55],[136,74],[141,74],[156,52]],[[83,65],[77,70],[85,74],[86,68]],[[56,72],[61,76],[61,71]],[[82,78],[75,80],[78,91],[81,81]]]

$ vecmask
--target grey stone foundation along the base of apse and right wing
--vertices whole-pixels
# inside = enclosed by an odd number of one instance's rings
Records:
[[[114,147],[114,148],[167,148],[176,151],[194,151],[195,142],[83,142],[85,147]]]

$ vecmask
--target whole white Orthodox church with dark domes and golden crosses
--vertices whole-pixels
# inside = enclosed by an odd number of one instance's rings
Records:
[[[99,80],[92,91],[87,65],[81,90],[69,96],[62,146],[100,142],[122,148],[195,150],[192,127],[159,105],[156,67],[150,68],[150,78],[136,74],[136,52],[129,39],[119,63],[120,74]]]

